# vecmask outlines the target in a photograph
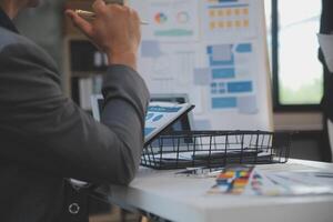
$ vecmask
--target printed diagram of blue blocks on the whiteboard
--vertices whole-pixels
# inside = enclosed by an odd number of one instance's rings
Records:
[[[209,68],[194,70],[195,78],[206,75],[206,80],[198,84],[208,84],[212,110],[238,109],[240,112],[256,112],[254,95],[254,77],[242,60],[249,61],[253,56],[252,44],[249,42],[236,44],[212,44],[206,47]],[[241,74],[239,67],[248,72]]]

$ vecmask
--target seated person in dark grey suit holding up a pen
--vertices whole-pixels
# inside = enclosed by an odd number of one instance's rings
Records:
[[[139,167],[149,102],[135,71],[140,19],[102,0],[91,22],[67,11],[109,58],[100,124],[63,95],[53,60],[12,24],[37,4],[0,0],[0,221],[84,221],[80,203],[69,205],[67,179],[128,184]]]

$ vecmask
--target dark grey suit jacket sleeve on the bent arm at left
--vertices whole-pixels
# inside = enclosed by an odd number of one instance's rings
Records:
[[[63,178],[129,183],[143,148],[149,92],[129,67],[104,75],[102,122],[65,98],[49,56],[30,43],[0,52],[0,158]],[[7,147],[8,145],[8,147]]]

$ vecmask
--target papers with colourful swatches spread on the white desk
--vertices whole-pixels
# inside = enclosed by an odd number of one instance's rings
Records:
[[[265,172],[252,167],[225,169],[209,193],[269,196],[333,194],[333,172]]]

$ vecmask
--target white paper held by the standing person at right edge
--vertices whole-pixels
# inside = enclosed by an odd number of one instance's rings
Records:
[[[333,34],[317,34],[319,43],[323,51],[327,68],[333,72]]]

